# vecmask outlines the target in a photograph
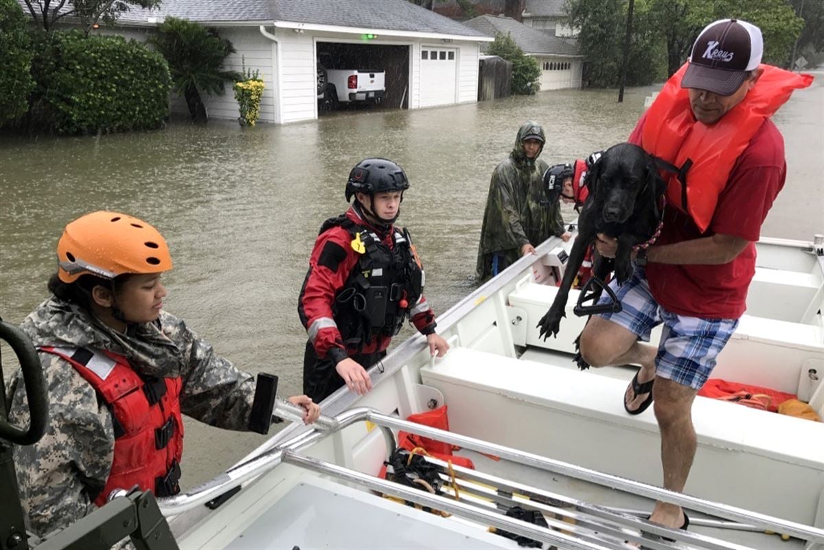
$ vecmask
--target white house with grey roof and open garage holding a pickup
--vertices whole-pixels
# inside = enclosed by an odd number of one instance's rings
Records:
[[[164,0],[159,10],[132,9],[116,27],[95,32],[145,40],[167,16],[231,40],[237,53],[224,67],[240,71],[243,62],[260,71],[260,120],[277,124],[317,118],[319,50],[348,50],[384,70],[384,105],[419,109],[475,102],[480,44],[492,40],[406,0]],[[203,99],[211,118],[239,116],[231,89]],[[185,110],[182,101],[172,107]]]

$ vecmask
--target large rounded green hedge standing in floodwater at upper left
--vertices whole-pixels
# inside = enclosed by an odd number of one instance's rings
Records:
[[[169,67],[161,54],[121,36],[39,33],[33,118],[59,133],[160,128],[169,114]]]

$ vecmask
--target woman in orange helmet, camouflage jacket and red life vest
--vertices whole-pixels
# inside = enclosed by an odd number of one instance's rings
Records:
[[[152,226],[115,212],[93,212],[66,227],[58,256],[58,273],[49,281],[53,296],[21,325],[40,352],[49,393],[49,426],[44,437],[35,445],[14,449],[26,527],[40,537],[90,514],[115,487],[128,490],[139,484],[157,493],[154,482],[135,480],[124,464],[137,462],[140,468],[143,462],[157,462],[157,456],[169,452],[169,445],[176,445],[179,459],[180,413],[211,426],[249,431],[255,398],[252,375],[215,355],[212,346],[183,320],[161,310],[166,290],[160,275],[171,268],[171,256],[162,235]],[[151,431],[148,445],[124,442],[138,440],[129,426],[139,429],[142,423],[151,422],[147,420],[151,415],[124,418],[117,413],[122,409],[106,402],[101,387],[109,376],[112,380],[115,373],[124,372],[112,367],[114,356],[124,358],[125,372],[142,386],[119,399],[142,399],[143,407],[152,411],[152,400],[144,394],[148,395],[149,381],[154,380],[152,388],[162,395],[152,413],[159,406],[163,420],[180,422],[176,426],[180,433],[177,437],[168,434],[163,449],[156,450],[157,433]],[[85,362],[77,365],[77,361]],[[93,386],[91,380],[101,386]],[[9,419],[25,426],[28,408],[20,371],[9,380],[8,390]],[[170,395],[176,402],[169,400]],[[289,401],[307,409],[304,422],[314,422],[320,415],[320,408],[306,396]],[[129,407],[136,404],[141,403],[130,401]],[[130,453],[121,452],[123,445],[132,445]],[[138,454],[138,458],[129,454]],[[160,460],[165,470],[164,460],[166,455]],[[176,478],[169,484],[171,494],[180,490],[180,468],[175,471]],[[155,481],[155,474],[143,473],[143,479]]]

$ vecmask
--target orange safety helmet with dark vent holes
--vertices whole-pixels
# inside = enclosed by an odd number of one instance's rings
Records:
[[[66,226],[57,244],[58,276],[75,282],[82,275],[114,279],[124,273],[162,273],[171,254],[160,231],[118,212],[91,212]]]

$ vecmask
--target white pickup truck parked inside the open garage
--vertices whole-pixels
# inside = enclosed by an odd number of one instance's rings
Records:
[[[321,54],[317,63],[317,100],[330,109],[341,103],[380,103],[386,94],[384,77],[383,71],[335,68],[332,56]]]

